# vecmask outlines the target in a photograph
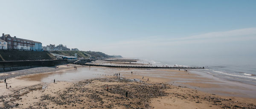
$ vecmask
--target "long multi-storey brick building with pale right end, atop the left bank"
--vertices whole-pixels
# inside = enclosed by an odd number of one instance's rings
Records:
[[[7,42],[7,49],[12,50],[29,50],[29,51],[42,51],[42,43],[33,40],[26,40],[11,37],[10,34],[4,34],[1,37],[2,40]]]

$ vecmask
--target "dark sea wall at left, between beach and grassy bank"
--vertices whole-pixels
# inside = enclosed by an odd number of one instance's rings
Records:
[[[57,66],[73,62],[74,60],[27,60],[27,61],[0,61],[0,72],[29,69],[38,66]]]

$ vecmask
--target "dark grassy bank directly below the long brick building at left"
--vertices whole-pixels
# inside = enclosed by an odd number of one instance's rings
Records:
[[[47,51],[0,51],[0,61],[11,60],[52,60],[54,57]],[[3,60],[4,59],[4,60]]]

